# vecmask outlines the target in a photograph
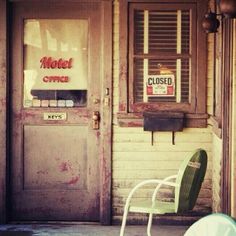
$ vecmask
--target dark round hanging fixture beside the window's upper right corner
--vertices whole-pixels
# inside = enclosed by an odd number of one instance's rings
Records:
[[[216,33],[220,26],[220,21],[217,19],[217,14],[209,12],[205,15],[202,21],[202,27],[206,33]]]

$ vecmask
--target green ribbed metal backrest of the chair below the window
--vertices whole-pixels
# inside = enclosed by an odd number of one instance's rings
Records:
[[[175,189],[175,212],[181,213],[192,210],[207,168],[207,153],[203,149],[197,149],[190,157],[187,157],[180,166]]]

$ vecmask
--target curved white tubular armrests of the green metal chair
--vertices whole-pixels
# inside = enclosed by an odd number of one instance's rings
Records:
[[[170,178],[171,177],[171,178]],[[128,198],[126,200],[126,204],[125,204],[125,209],[127,209],[129,207],[129,203],[131,201],[132,196],[134,195],[134,193],[141,187],[143,187],[146,184],[158,184],[158,186],[162,186],[162,185],[167,185],[167,186],[172,186],[172,187],[177,187],[178,184],[174,183],[174,182],[168,182],[169,179],[174,178],[173,176],[169,176],[163,180],[160,179],[149,179],[149,180],[144,180],[141,183],[137,184],[129,193]],[[176,177],[175,177],[176,178]],[[156,188],[158,188],[158,186]]]

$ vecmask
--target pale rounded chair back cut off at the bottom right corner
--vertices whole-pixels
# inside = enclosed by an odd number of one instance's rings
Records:
[[[235,236],[236,222],[229,216],[216,213],[205,216],[189,227],[184,236]]]

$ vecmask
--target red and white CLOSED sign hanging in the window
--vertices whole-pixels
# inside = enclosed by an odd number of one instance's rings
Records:
[[[146,78],[146,94],[148,97],[174,97],[175,76],[148,75]]]

